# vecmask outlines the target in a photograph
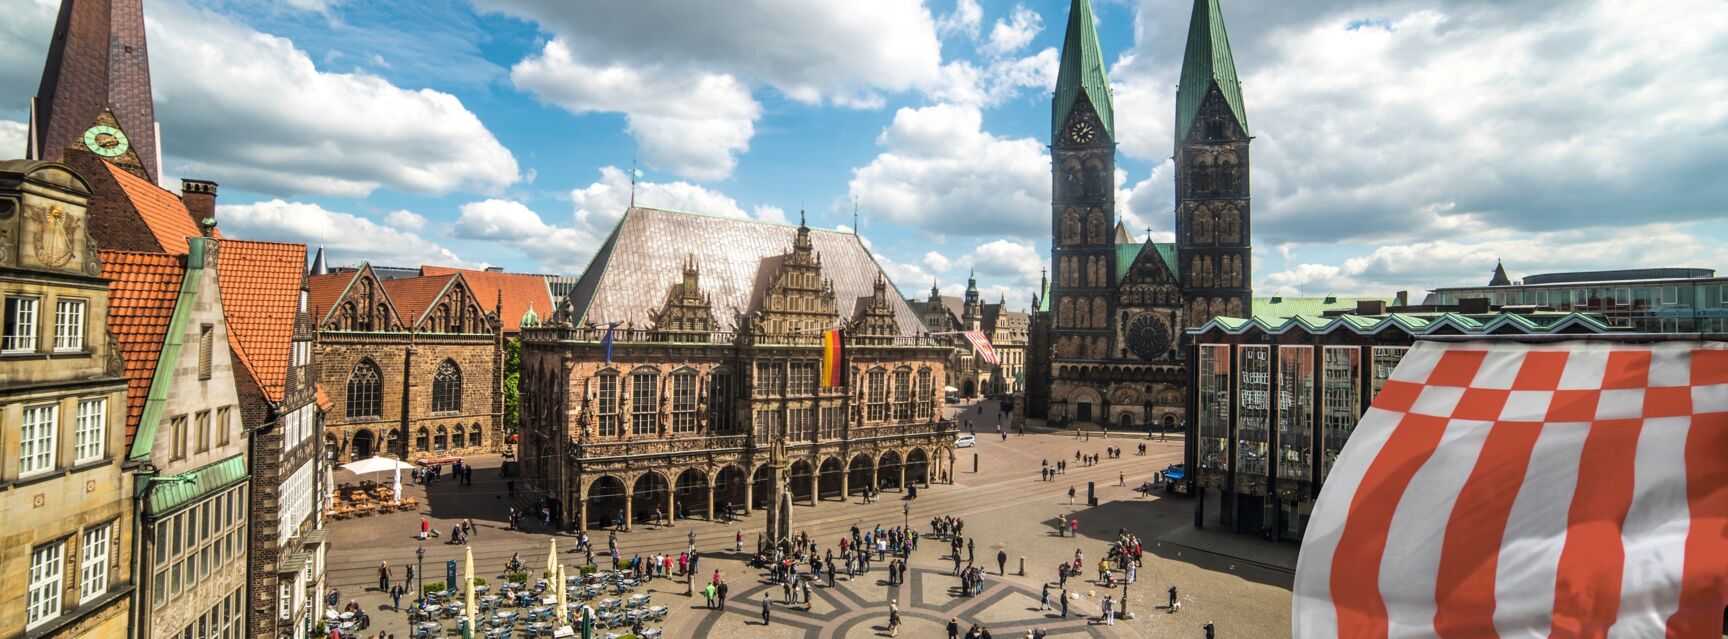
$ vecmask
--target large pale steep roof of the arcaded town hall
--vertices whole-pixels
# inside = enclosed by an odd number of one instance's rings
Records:
[[[660,309],[665,292],[683,280],[684,261],[695,257],[702,292],[714,299],[714,328],[738,330],[738,316],[760,304],[760,287],[769,282],[762,269],[791,252],[797,233],[790,225],[631,207],[570,290],[575,321],[648,326],[648,313]],[[859,302],[874,294],[881,276],[900,335],[924,333],[923,321],[857,235],[812,228],[810,244],[823,276],[833,283],[840,318],[855,318]]]

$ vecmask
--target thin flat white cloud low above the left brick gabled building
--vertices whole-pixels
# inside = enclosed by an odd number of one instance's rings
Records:
[[[325,249],[335,264],[370,261],[389,266],[458,264],[484,266],[456,257],[454,252],[372,219],[330,211],[318,204],[266,200],[254,204],[219,204],[216,219],[226,237],[271,242],[304,242]]]

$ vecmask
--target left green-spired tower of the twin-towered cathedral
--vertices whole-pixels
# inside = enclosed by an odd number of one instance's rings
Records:
[[[1108,359],[1116,333],[1116,128],[1092,2],[1073,0],[1051,109],[1051,345]]]

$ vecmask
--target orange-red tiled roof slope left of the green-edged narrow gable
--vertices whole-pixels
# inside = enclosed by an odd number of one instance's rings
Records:
[[[126,446],[131,447],[187,269],[178,256],[131,250],[102,250],[100,256],[102,276],[109,280],[109,333],[119,342],[126,373]]]

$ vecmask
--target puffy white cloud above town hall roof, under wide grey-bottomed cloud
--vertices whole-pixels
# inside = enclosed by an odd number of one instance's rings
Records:
[[[750,90],[729,74],[584,64],[565,40],[548,41],[510,78],[574,114],[624,112],[650,166],[696,180],[731,174],[762,116]]]

